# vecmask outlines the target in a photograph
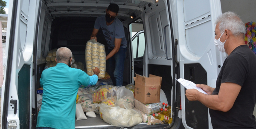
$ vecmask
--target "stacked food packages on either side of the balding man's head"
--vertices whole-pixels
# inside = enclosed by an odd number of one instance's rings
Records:
[[[47,57],[45,58],[46,60],[46,65],[45,69],[48,69],[49,67],[54,67],[57,65],[57,62],[55,61],[56,58],[56,52],[57,49],[52,49],[47,53]],[[76,69],[81,69],[84,71],[84,64],[81,62],[76,62],[74,55],[72,55],[72,65],[71,68],[76,68]]]

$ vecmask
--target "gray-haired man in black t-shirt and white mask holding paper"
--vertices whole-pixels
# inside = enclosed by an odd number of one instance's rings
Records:
[[[233,12],[222,14],[215,23],[214,43],[228,54],[216,88],[196,85],[208,95],[187,89],[186,97],[209,108],[213,129],[256,129],[256,56],[244,43],[244,23]]]

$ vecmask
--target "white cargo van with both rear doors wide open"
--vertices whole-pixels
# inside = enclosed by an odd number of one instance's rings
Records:
[[[35,129],[36,89],[45,66],[39,59],[51,49],[66,46],[84,63],[85,43],[96,17],[104,15],[110,3],[119,5],[117,18],[128,41],[123,86],[134,82],[135,72],[163,77],[161,89],[172,106],[173,122],[120,128],[97,117],[76,121],[76,129],[212,128],[208,108],[188,101],[185,88],[175,77],[215,87],[227,55],[213,43],[214,22],[221,9],[237,14],[242,10],[253,16],[255,11],[241,7],[255,9],[253,0],[10,0],[3,58],[2,129]],[[246,17],[239,15],[242,20]],[[131,39],[133,23],[143,23],[144,31]],[[106,44],[101,30],[97,39]]]

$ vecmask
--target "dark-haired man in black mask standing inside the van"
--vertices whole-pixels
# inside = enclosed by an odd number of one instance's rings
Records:
[[[102,29],[108,44],[106,60],[108,60],[109,75],[115,86],[122,86],[127,40],[122,22],[116,18],[118,11],[119,6],[111,3],[106,9],[106,14],[97,17],[90,39],[97,40],[96,35],[99,29]]]

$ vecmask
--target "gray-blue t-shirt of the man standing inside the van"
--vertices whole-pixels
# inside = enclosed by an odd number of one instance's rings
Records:
[[[102,28],[102,32],[108,43],[108,49],[115,47],[115,38],[122,38],[121,47],[126,48],[127,40],[125,38],[125,30],[122,22],[118,18],[115,18],[114,22],[107,26],[105,15],[99,16],[95,21],[94,28]]]

